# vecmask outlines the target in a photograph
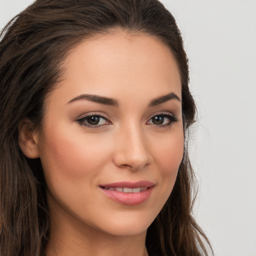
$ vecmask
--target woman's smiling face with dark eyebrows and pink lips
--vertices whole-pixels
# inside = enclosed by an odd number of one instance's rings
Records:
[[[116,32],[72,49],[38,131],[50,214],[113,235],[144,232],[182,159],[180,100],[174,57],[152,36]]]

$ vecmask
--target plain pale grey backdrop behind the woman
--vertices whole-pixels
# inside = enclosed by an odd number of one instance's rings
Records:
[[[0,0],[0,28],[32,0]],[[256,256],[256,1],[162,0],[190,65],[195,218],[216,256]]]

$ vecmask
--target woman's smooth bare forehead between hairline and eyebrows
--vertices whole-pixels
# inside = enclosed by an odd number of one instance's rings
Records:
[[[66,102],[82,93],[156,97],[173,91],[181,97],[171,50],[147,34],[118,31],[86,39],[70,50],[62,67],[57,90]]]

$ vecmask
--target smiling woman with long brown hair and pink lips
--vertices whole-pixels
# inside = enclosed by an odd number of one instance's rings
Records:
[[[2,32],[0,77],[0,255],[207,254],[160,2],[36,0]]]

